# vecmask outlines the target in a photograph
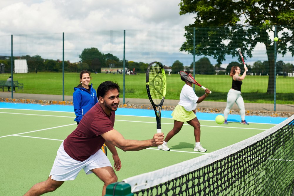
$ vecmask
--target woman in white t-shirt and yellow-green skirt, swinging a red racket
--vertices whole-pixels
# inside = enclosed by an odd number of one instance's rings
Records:
[[[190,76],[190,72],[186,72]],[[183,86],[181,94],[180,94],[180,102],[176,106],[176,108],[173,110],[173,113],[171,114],[174,119],[173,123],[173,129],[168,132],[166,135],[162,150],[163,151],[169,151],[170,148],[168,148],[167,142],[178,132],[181,131],[181,128],[183,127],[184,122],[187,122],[194,128],[194,136],[195,136],[195,147],[194,151],[200,151],[200,152],[206,152],[206,149],[204,149],[200,144],[200,122],[198,121],[196,117],[196,106],[198,103],[201,103],[208,95],[210,90],[206,89],[205,94],[201,97],[197,97],[195,94],[192,83],[188,82],[188,80],[181,77],[181,80],[186,82],[186,84]]]

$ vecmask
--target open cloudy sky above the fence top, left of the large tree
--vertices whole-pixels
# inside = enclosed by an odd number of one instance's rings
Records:
[[[1,0],[0,35],[183,28],[180,0]]]

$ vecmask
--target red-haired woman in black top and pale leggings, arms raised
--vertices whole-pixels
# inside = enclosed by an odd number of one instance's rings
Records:
[[[225,111],[223,113],[223,116],[225,117],[225,122],[223,124],[228,124],[228,115],[234,103],[236,103],[240,109],[241,124],[248,124],[245,120],[245,105],[243,97],[241,96],[242,80],[245,78],[247,71],[248,69],[245,69],[243,75],[239,76],[241,74],[240,67],[233,66],[231,68],[230,77],[233,78],[232,88],[228,92],[227,106],[225,107]]]

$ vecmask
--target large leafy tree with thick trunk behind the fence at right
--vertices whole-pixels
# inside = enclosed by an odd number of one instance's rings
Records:
[[[194,24],[185,27],[186,42],[181,51],[193,53],[196,28],[196,55],[212,56],[220,64],[225,55],[248,57],[257,43],[263,43],[269,63],[268,93],[274,92],[275,52],[273,32],[278,32],[277,51],[294,56],[293,0],[181,0],[180,14],[196,14]],[[275,29],[276,28],[276,29]]]

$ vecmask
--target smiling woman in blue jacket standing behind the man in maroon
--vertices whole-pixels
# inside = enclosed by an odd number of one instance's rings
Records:
[[[81,121],[82,117],[93,107],[97,102],[97,94],[90,84],[91,72],[84,70],[80,73],[80,82],[77,87],[74,88],[74,113],[76,118],[74,119],[77,124]]]

